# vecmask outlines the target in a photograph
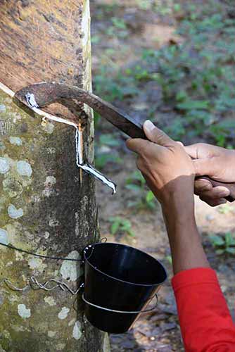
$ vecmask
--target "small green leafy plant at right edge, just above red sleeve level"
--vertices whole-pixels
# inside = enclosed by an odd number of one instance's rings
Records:
[[[235,254],[235,238],[230,232],[227,232],[225,236],[210,236],[210,241],[212,246],[215,247],[217,254]]]

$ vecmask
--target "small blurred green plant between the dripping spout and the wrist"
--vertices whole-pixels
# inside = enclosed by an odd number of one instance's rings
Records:
[[[151,209],[156,206],[155,196],[152,191],[146,191],[146,181],[141,172],[134,171],[126,180],[127,189],[132,191],[135,196],[134,201],[129,201],[127,206],[136,209]]]

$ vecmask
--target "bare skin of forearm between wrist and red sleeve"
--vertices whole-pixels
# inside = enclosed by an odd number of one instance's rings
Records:
[[[196,227],[193,196],[175,192],[163,205],[163,216],[172,252],[174,274],[210,267]]]

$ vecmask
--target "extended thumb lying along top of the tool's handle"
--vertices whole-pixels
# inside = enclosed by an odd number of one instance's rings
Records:
[[[149,141],[160,146],[172,146],[175,143],[165,132],[155,127],[150,120],[144,122],[144,133]]]

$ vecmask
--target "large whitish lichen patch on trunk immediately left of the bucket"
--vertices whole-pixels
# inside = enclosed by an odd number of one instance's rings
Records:
[[[80,260],[81,256],[77,251],[72,251],[69,253],[67,258]],[[61,265],[61,275],[63,279],[68,281],[76,281],[82,274],[83,269],[81,268],[80,261],[63,261],[63,264]]]

